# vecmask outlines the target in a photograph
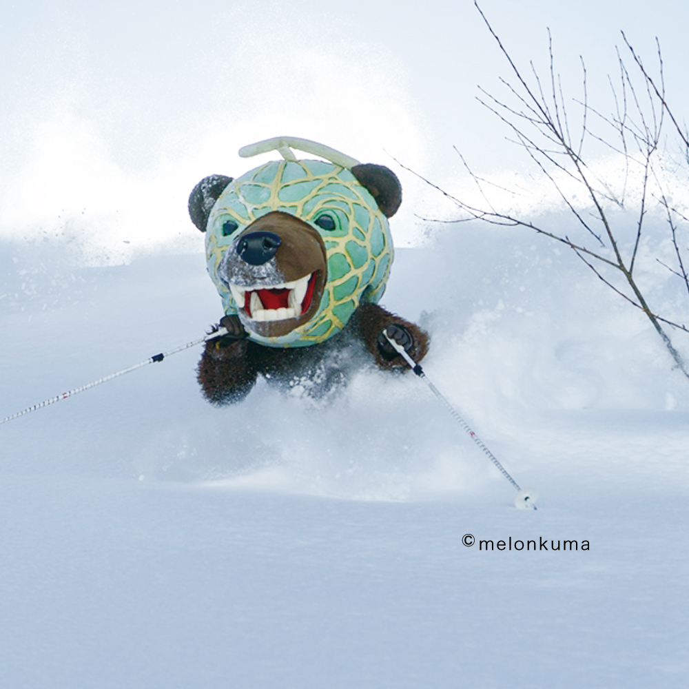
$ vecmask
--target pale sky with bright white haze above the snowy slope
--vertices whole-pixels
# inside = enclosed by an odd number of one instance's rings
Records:
[[[689,3],[481,4],[522,65],[547,64],[550,28],[573,96],[580,54],[590,97],[604,99],[619,30],[647,63],[659,37],[670,102],[689,112]],[[189,189],[246,172],[238,148],[278,134],[393,167],[400,225],[427,190],[393,158],[442,181],[453,145],[483,172],[520,165],[476,101],[508,70],[473,0],[4,3],[0,65],[4,235],[79,221],[115,242],[191,238]]]

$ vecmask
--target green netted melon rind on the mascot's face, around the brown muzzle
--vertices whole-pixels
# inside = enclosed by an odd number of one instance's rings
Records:
[[[327,282],[313,318],[285,336],[249,338],[269,347],[304,347],[331,338],[347,325],[360,302],[380,300],[393,260],[387,218],[376,200],[346,167],[323,161],[272,161],[232,181],[208,218],[206,258],[209,274],[227,315],[238,312],[218,266],[238,235],[271,212],[294,215],[322,237],[327,254]],[[315,224],[328,213],[333,230]],[[238,228],[225,236],[228,221]]]

